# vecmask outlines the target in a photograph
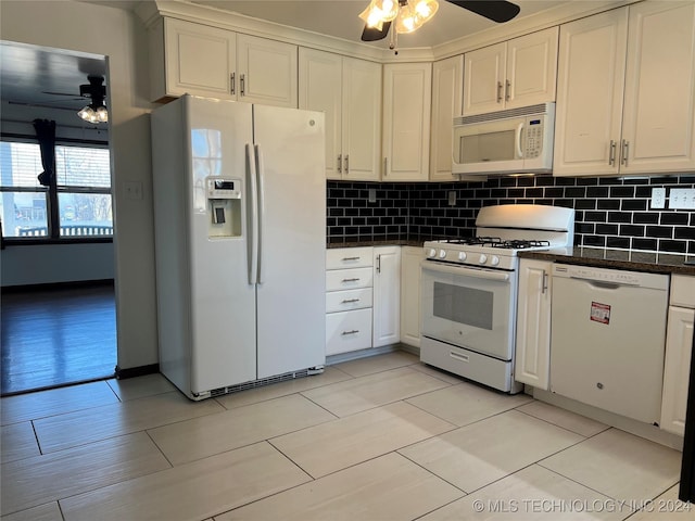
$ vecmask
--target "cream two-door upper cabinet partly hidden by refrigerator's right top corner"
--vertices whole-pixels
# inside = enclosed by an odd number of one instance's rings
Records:
[[[326,117],[328,179],[379,180],[381,65],[301,48],[299,106]]]

